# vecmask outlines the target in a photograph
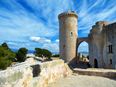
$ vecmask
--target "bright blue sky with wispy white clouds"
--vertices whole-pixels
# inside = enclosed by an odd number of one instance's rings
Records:
[[[68,10],[78,14],[79,37],[86,37],[96,21],[116,21],[116,0],[0,0],[0,43],[58,52],[57,16]],[[82,43],[79,50],[85,47]]]

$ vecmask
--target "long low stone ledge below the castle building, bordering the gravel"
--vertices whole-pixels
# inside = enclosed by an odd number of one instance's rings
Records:
[[[116,79],[116,70],[111,69],[79,69],[75,68],[74,73],[80,75],[101,76]]]

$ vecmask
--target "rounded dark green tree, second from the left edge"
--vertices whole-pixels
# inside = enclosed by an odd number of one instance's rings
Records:
[[[16,58],[18,62],[24,62],[26,60],[26,54],[28,52],[28,49],[26,48],[20,48],[18,52],[16,53]]]

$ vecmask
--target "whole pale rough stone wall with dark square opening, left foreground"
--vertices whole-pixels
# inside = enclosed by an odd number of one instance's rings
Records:
[[[47,87],[49,83],[71,74],[63,60],[41,63],[31,59],[31,62],[0,71],[0,87]]]

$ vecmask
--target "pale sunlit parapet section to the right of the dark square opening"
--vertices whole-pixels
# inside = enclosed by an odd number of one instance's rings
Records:
[[[71,75],[72,71],[62,60],[54,60],[41,64],[40,76],[34,78],[34,87],[47,87],[47,84],[59,78]],[[39,83],[39,84],[38,84]]]

